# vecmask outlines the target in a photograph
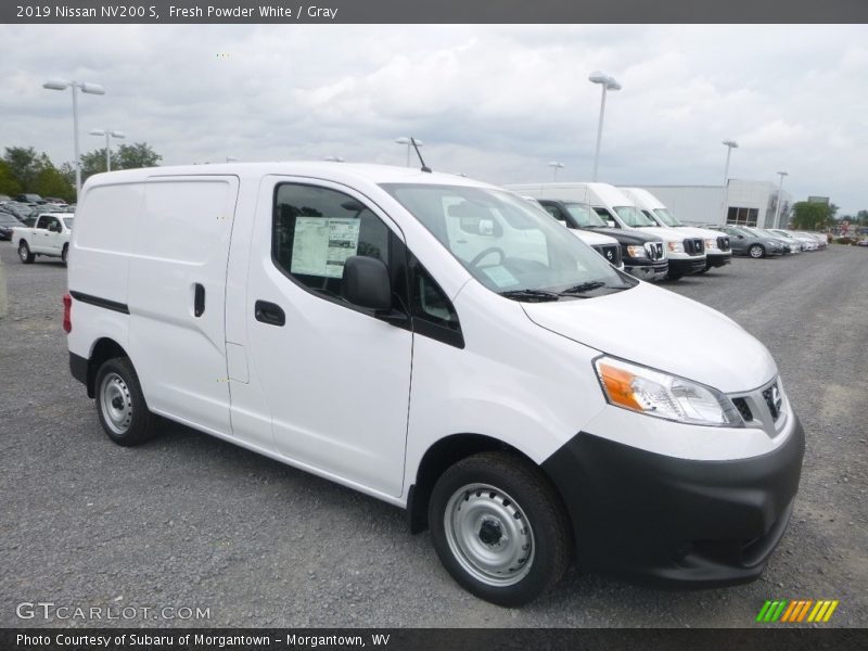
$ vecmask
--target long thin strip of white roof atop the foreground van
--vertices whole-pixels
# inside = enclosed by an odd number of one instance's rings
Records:
[[[285,161],[272,163],[217,163],[207,165],[178,165],[143,167],[93,175],[86,186],[129,183],[155,177],[169,176],[238,176],[259,178],[266,175],[309,177],[323,180],[355,180],[369,183],[431,183],[449,186],[493,187],[463,176],[446,173],[426,173],[418,167],[396,167],[372,163],[336,163],[330,161]]]

